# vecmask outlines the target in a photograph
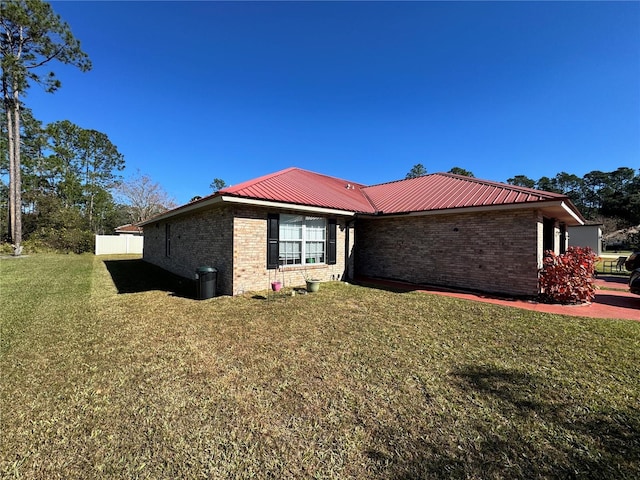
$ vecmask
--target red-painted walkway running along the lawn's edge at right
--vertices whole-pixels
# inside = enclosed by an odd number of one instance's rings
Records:
[[[369,285],[386,286],[398,290],[419,291],[435,295],[463,298],[476,302],[492,303],[508,307],[523,308],[544,313],[557,313],[575,317],[609,318],[640,321],[640,295],[629,292],[627,286],[628,277],[615,275],[600,275],[596,279],[598,291],[595,300],[587,305],[556,305],[539,303],[531,300],[510,299],[495,297],[482,293],[471,293],[446,290],[428,285],[412,285],[402,282],[362,278],[361,283]]]

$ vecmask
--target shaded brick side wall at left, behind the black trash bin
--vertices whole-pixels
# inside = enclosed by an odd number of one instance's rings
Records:
[[[166,224],[171,228],[171,254],[165,255]],[[196,268],[218,270],[217,293],[231,294],[233,217],[219,206],[145,226],[143,258],[177,275],[195,278]]]

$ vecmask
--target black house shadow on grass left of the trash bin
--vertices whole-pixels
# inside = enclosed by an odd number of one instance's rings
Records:
[[[105,260],[104,264],[118,293],[160,290],[177,297],[196,297],[195,280],[174,275],[141,259]]]

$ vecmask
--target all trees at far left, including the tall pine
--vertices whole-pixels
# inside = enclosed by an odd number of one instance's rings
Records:
[[[48,3],[0,0],[0,240],[16,255],[23,237],[35,248],[91,251],[94,234],[173,206],[149,177],[123,181],[124,156],[105,133],[34,117],[23,98],[32,85],[49,93],[61,87],[43,71],[53,61],[91,69]]]

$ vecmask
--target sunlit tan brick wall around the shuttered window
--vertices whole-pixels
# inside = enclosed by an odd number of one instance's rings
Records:
[[[345,252],[353,249],[353,226],[347,228],[345,219],[338,219],[337,258],[335,265],[314,265],[302,267],[284,267],[278,271],[267,270],[267,214],[292,213],[298,211],[268,211],[253,207],[234,207],[233,223],[233,293],[235,295],[270,288],[270,282],[276,278],[286,286],[304,286],[304,273],[322,281],[342,280],[348,276],[345,268]],[[347,235],[347,231],[350,235]],[[349,245],[346,244],[347,239]],[[349,255],[347,265],[353,268],[353,258]]]

